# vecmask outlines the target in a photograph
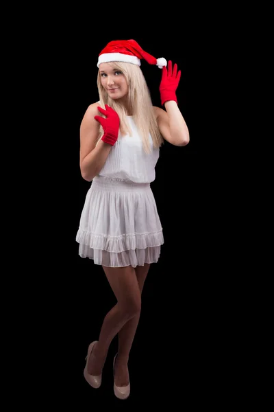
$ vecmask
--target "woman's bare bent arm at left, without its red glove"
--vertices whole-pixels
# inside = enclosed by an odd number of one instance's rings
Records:
[[[96,146],[100,124],[95,119],[99,104],[88,106],[80,126],[80,170],[83,179],[90,182],[100,172],[112,149],[100,140]]]

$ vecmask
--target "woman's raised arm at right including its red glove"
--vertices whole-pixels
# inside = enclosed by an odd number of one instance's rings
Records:
[[[186,146],[189,142],[189,131],[186,121],[177,105],[176,89],[181,77],[181,71],[177,73],[177,65],[172,70],[169,60],[168,69],[163,67],[162,80],[160,83],[160,95],[162,108],[154,107],[160,132],[166,141],[174,146]]]

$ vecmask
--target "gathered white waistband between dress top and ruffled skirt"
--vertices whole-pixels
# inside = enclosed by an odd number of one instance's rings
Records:
[[[142,190],[151,190],[150,183],[136,183],[125,181],[123,179],[110,179],[104,176],[95,176],[92,180],[94,189],[105,190],[108,192],[140,192]]]

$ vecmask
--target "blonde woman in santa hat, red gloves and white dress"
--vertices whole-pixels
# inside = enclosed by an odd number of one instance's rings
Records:
[[[152,106],[140,60],[162,68],[160,97],[165,110]],[[99,102],[88,106],[80,128],[82,177],[92,181],[77,232],[79,255],[103,267],[116,296],[98,341],[90,343],[84,376],[98,388],[110,343],[119,334],[114,357],[114,393],[130,393],[127,362],[140,318],[141,293],[149,267],[164,243],[150,183],[164,140],[189,141],[177,106],[181,71],[156,60],[134,40],[112,41],[99,54]]]

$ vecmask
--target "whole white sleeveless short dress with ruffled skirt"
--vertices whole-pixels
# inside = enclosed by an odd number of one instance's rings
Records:
[[[134,118],[127,119],[132,135],[118,137],[92,179],[76,235],[81,258],[110,267],[158,262],[164,243],[150,187],[159,148],[153,148],[149,135],[152,150],[146,154]]]

